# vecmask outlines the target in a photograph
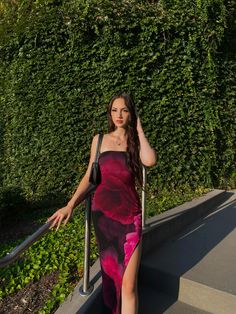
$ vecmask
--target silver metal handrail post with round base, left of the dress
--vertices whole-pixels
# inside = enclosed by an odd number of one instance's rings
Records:
[[[91,236],[91,195],[86,198],[85,209],[85,237],[84,237],[84,277],[83,285],[79,288],[81,296],[88,296],[93,291],[93,285],[89,282],[90,269],[90,236]]]

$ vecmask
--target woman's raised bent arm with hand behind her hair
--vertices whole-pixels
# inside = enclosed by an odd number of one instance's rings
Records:
[[[142,164],[147,167],[154,166],[157,162],[156,152],[151,147],[142,128],[140,118],[137,119],[137,131],[140,142],[140,159]]]

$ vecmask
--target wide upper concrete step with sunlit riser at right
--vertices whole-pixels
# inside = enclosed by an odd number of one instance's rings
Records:
[[[214,314],[236,313],[236,195],[142,259],[140,284]]]

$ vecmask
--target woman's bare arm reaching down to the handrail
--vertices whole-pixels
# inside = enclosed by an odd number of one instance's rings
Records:
[[[67,203],[65,207],[62,207],[58,209],[51,217],[48,218],[47,221],[52,221],[53,224],[51,228],[56,227],[56,230],[60,227],[61,223],[63,222],[66,224],[68,220],[70,219],[73,209],[82,201],[84,193],[88,190],[90,183],[89,183],[89,175],[92,167],[92,163],[95,160],[96,155],[96,147],[98,142],[98,135],[95,135],[92,141],[91,145],[91,153],[90,153],[90,160],[89,165],[87,168],[87,171],[80,181],[74,195],[70,199],[70,201]]]

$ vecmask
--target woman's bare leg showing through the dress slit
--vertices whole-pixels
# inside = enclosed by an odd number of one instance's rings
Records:
[[[126,267],[121,289],[121,314],[138,313],[138,269],[141,258],[142,243],[135,248]]]

